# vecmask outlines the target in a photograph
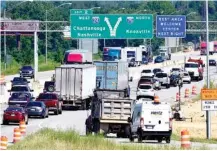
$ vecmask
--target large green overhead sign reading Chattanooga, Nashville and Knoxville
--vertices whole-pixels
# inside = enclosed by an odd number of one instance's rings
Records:
[[[151,14],[70,15],[71,37],[92,39],[151,39]]]

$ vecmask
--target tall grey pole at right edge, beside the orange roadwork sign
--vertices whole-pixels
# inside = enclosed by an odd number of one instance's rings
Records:
[[[208,0],[206,0],[206,67],[207,67],[207,89],[210,88],[210,80],[209,80],[209,7]],[[207,139],[211,137],[211,115],[210,111],[206,111],[206,135]]]

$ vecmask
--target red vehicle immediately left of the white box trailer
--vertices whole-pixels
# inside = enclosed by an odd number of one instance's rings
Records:
[[[44,102],[48,110],[53,111],[54,114],[62,114],[62,102],[56,93],[40,93],[36,101]]]

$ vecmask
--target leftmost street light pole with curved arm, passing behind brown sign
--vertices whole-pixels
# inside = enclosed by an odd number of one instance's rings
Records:
[[[12,9],[16,8],[17,6],[19,6],[20,4],[22,3],[25,3],[25,2],[32,2],[32,0],[25,0],[25,1],[22,1],[20,3],[18,3],[17,5],[15,5],[14,7],[6,10],[4,9],[4,20],[6,19],[6,11],[11,11]],[[4,31],[4,66],[5,66],[5,70],[7,68],[7,39],[6,39],[6,31]]]

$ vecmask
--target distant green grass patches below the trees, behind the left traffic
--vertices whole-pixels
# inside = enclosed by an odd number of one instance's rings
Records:
[[[102,56],[101,54],[94,54],[93,60],[101,60]],[[42,59],[39,59],[38,63],[38,70],[39,71],[49,71],[54,70],[55,67],[60,66],[61,63],[54,62],[52,60],[48,60],[47,64],[42,61]],[[2,63],[2,74],[3,75],[13,75],[19,73],[19,69],[22,65],[18,64],[17,62],[13,62],[11,65],[7,67],[7,69],[4,69],[4,64]],[[32,65],[33,66],[33,65]]]

